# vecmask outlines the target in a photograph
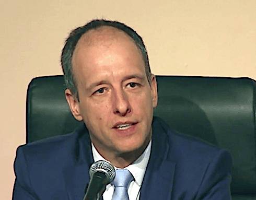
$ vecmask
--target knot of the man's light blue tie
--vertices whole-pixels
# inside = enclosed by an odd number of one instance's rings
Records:
[[[127,189],[128,185],[132,182],[133,175],[127,169],[115,170],[115,178],[113,180],[113,185],[115,187],[125,187]]]

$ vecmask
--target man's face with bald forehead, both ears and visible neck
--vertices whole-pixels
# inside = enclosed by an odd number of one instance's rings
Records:
[[[99,153],[107,159],[144,150],[151,138],[157,86],[152,76],[150,87],[132,39],[110,27],[91,30],[76,46],[73,72],[79,102],[68,90],[66,97]]]

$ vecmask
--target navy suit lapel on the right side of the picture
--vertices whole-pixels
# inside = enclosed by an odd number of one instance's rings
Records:
[[[170,161],[168,136],[154,119],[152,150],[141,187],[141,200],[171,199],[175,162]]]

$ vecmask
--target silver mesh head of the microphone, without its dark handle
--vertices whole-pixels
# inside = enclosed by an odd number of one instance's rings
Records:
[[[91,167],[89,169],[90,178],[96,172],[103,172],[104,174],[106,174],[106,177],[108,178],[109,183],[114,180],[115,169],[112,166],[112,164],[107,160],[98,160],[91,164]]]

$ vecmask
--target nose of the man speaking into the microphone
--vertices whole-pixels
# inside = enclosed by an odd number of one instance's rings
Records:
[[[131,112],[129,97],[123,90],[115,91],[113,98],[113,111],[115,114],[125,116]]]

